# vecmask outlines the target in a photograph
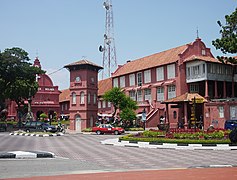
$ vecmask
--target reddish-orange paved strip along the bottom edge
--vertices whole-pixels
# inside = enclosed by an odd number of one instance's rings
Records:
[[[237,179],[237,167],[233,168],[200,168],[200,169],[168,169],[142,170],[128,172],[69,174],[62,176],[42,176],[29,178],[11,178],[9,180],[225,180]]]

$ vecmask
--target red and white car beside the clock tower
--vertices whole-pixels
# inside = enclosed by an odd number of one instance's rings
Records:
[[[104,133],[118,135],[124,133],[124,129],[121,127],[113,127],[111,124],[100,124],[99,126],[92,127],[92,132],[96,132],[98,135]]]

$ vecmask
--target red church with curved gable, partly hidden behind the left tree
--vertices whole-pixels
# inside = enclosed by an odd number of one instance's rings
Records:
[[[35,59],[33,66],[41,68],[38,58]],[[48,114],[50,111],[60,114],[58,86],[54,86],[52,80],[47,74],[41,74],[36,77],[39,87],[38,92],[32,98],[31,110],[34,119],[39,118],[41,113]],[[27,101],[25,102],[27,104]],[[11,101],[8,104],[8,118],[16,118],[17,106]]]

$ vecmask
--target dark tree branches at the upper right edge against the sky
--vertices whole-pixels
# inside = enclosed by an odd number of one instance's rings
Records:
[[[217,21],[221,28],[221,38],[212,41],[212,44],[224,54],[235,54],[237,53],[237,8],[231,15],[226,15],[225,20],[225,25]],[[233,57],[218,56],[217,58],[222,63],[237,64],[237,59]]]

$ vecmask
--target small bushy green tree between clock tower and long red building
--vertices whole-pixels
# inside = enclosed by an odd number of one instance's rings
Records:
[[[126,96],[120,88],[114,87],[110,91],[107,91],[103,99],[113,104],[113,117],[119,109],[122,120],[132,121],[136,119],[136,113],[134,111],[138,108],[137,102],[133,101],[129,96]]]

